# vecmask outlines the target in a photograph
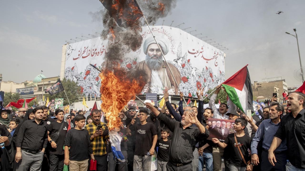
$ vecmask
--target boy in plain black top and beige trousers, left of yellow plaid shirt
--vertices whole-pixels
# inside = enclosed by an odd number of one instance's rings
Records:
[[[64,163],[69,165],[70,171],[86,171],[88,169],[88,154],[90,154],[92,160],[95,160],[89,133],[86,129],[83,129],[85,120],[84,115],[76,115],[75,128],[70,129],[66,134]]]

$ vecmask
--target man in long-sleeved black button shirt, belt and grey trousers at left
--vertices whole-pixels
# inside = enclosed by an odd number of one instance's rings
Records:
[[[33,110],[34,119],[25,121],[20,127],[16,140],[16,171],[41,170],[41,162],[47,147],[47,127],[42,120],[43,109]]]

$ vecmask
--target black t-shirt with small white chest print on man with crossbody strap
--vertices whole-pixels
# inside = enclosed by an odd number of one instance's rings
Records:
[[[54,134],[55,132],[57,132],[59,130],[61,124],[62,123],[59,123],[57,121],[49,124],[48,131],[50,132],[50,134],[49,134],[50,137],[52,136],[52,134]],[[49,149],[50,153],[60,154],[60,155],[65,154],[65,152],[63,151],[63,143],[65,142],[65,137],[66,137],[67,131],[68,131],[68,123],[63,122],[63,128],[59,132],[59,137],[56,142],[56,148],[52,148],[51,144],[48,142],[48,146],[49,146],[48,149]]]

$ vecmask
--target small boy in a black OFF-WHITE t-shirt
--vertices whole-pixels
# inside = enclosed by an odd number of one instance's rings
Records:
[[[167,137],[170,135],[168,127],[161,129],[161,138],[158,138],[158,155],[157,155],[157,171],[166,171],[168,162],[168,150],[170,149],[170,140]]]

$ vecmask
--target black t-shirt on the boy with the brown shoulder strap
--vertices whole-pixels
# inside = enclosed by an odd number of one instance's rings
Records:
[[[244,156],[246,162],[248,162],[251,159],[248,152],[248,149],[251,149],[251,138],[245,134],[242,137],[236,136],[236,140],[238,142],[242,155]],[[234,152],[234,154],[230,155],[230,164],[234,166],[246,167],[246,164],[242,160],[242,156],[240,155],[239,150],[237,148],[234,134],[229,134],[226,140],[224,140],[224,143],[226,143],[229,148],[231,148],[232,152]]]

